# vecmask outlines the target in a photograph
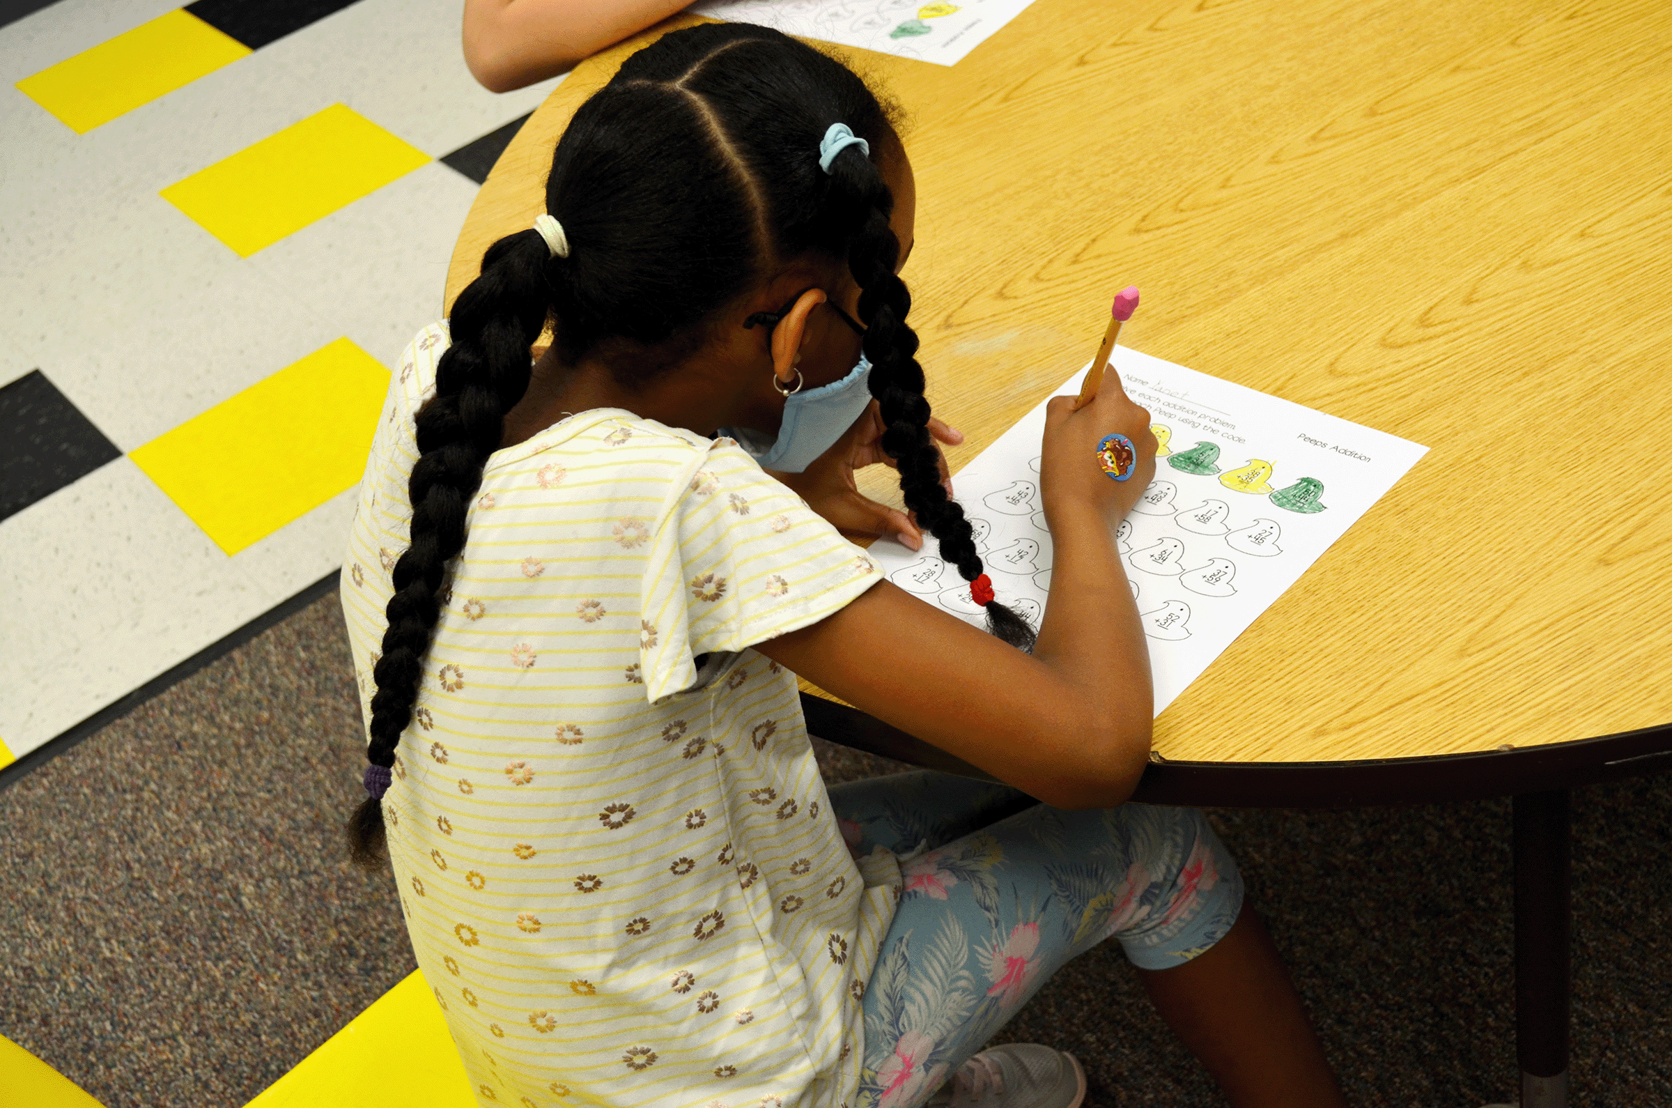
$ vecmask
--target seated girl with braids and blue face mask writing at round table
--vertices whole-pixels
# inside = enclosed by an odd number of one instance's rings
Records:
[[[941,484],[906,325],[913,189],[841,64],[759,27],[665,35],[401,362],[343,589],[351,842],[386,835],[483,1105],[1070,1108],[1072,1056],[976,1051],[1105,937],[1232,1103],[1341,1103],[1202,817],[1120,807],[1152,701],[1110,532],[1154,472],[1149,413],[1112,377],[1053,402],[1073,603],[1013,649],[1032,629]],[[1137,479],[1099,469],[1110,432]],[[1005,641],[824,517],[863,514],[851,467],[878,452],[915,514],[893,526],[940,541]],[[826,793],[796,673],[1005,785]]]

